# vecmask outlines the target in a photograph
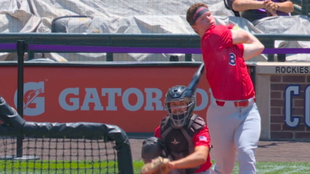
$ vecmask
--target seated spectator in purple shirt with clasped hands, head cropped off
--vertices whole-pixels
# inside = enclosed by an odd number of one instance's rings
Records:
[[[225,0],[232,11],[240,12],[241,17],[255,21],[268,16],[290,15],[294,11],[290,0]]]

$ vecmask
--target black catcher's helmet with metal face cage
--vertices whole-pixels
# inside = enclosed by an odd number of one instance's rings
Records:
[[[172,107],[171,102],[184,101],[184,94],[187,91],[187,87],[184,85],[177,85],[168,89],[165,98],[165,108],[169,113],[170,120],[172,121],[172,126],[174,128],[181,128],[188,123],[190,116],[195,108],[195,96],[190,99],[187,105]],[[177,113],[173,113],[171,109],[179,110]]]

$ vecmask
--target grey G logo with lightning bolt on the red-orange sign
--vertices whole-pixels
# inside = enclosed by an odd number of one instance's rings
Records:
[[[36,116],[45,111],[45,98],[38,97],[44,93],[44,82],[28,82],[24,84],[24,115]],[[15,107],[17,107],[17,90],[14,95]],[[31,107],[30,107],[31,104]]]

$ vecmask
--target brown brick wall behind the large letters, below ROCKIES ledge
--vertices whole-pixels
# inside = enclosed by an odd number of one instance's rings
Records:
[[[310,128],[304,124],[304,90],[310,84],[310,76],[272,75],[270,81],[270,138],[309,140]],[[287,126],[284,117],[284,91],[289,85],[300,85],[300,95],[292,97],[292,115],[300,119],[298,126],[295,128]]]

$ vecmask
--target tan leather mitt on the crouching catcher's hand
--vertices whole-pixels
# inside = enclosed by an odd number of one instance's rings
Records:
[[[141,169],[141,174],[168,174],[169,169],[169,159],[157,157],[150,163],[144,164]]]

